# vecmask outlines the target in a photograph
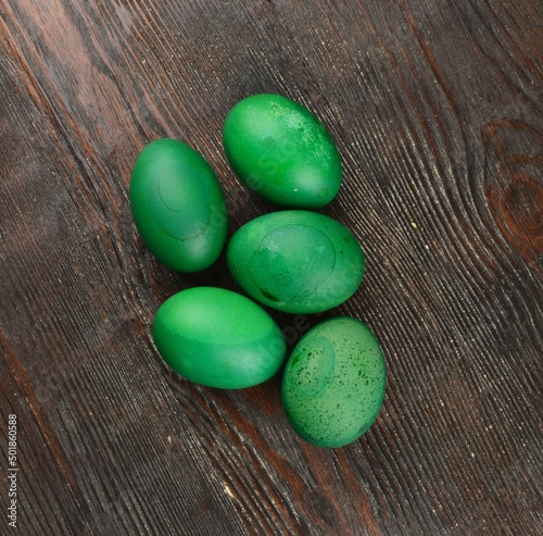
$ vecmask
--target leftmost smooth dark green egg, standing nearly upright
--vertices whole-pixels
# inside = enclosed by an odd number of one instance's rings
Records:
[[[207,162],[181,141],[163,138],[143,148],[131,174],[130,209],[143,242],[172,270],[204,270],[224,248],[225,196]]]

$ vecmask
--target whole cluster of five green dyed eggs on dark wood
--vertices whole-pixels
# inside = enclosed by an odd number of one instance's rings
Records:
[[[228,113],[223,140],[243,183],[285,210],[248,222],[228,241],[229,272],[250,298],[212,286],[181,290],[159,308],[152,334],[181,376],[240,389],[272,378],[287,360],[283,332],[262,306],[298,315],[330,310],[356,291],[365,259],[344,225],[315,212],[338,194],[342,169],[328,130],[307,109],[278,95],[248,97]],[[129,197],[143,242],[172,270],[205,270],[224,250],[223,189],[188,145],[163,138],[146,146]],[[337,316],[316,324],[294,347],[281,401],[303,439],[342,447],[377,417],[386,379],[371,331],[357,319]]]

